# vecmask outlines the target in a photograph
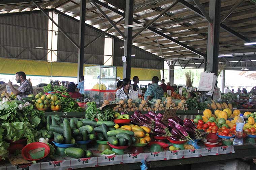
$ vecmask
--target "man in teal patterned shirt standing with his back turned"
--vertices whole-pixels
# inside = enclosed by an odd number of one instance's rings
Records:
[[[162,99],[164,96],[163,89],[158,85],[159,78],[154,76],[152,78],[152,84],[148,87],[145,93],[145,99],[148,102],[151,99]]]

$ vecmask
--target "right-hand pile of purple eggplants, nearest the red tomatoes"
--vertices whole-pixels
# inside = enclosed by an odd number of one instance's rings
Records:
[[[192,140],[202,138],[196,125],[190,119],[184,119],[184,121],[178,116],[171,117],[168,119],[167,124],[169,130],[171,131],[171,140],[180,141],[184,139]]]

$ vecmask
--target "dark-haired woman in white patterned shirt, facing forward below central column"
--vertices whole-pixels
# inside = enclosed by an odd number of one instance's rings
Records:
[[[131,80],[128,78],[123,79],[123,88],[117,91],[117,99],[132,99],[133,88],[131,86]]]

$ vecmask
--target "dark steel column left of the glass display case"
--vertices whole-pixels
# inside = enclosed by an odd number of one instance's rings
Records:
[[[78,42],[78,68],[77,68],[77,82],[79,76],[84,75],[84,54],[85,54],[85,14],[86,1],[80,2],[80,21],[79,21],[79,42]]]

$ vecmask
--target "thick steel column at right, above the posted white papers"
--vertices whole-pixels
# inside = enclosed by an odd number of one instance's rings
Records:
[[[221,0],[210,1],[209,16],[213,22],[208,23],[206,70],[215,75],[218,74],[219,64],[220,9]]]

